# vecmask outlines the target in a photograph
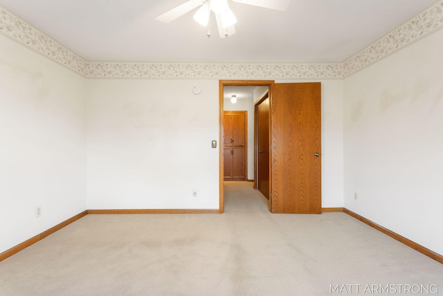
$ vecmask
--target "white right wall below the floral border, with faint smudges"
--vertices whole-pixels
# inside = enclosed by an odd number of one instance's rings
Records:
[[[443,254],[443,31],[345,79],[345,207]],[[357,200],[354,200],[357,193]]]

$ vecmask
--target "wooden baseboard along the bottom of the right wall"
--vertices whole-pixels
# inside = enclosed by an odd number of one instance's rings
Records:
[[[370,227],[373,227],[373,228],[377,229],[379,232],[383,232],[383,234],[386,234],[386,235],[396,239],[400,243],[404,243],[408,247],[412,247],[414,250],[416,250],[416,251],[418,251],[418,252],[420,252],[422,254],[425,254],[426,256],[434,259],[435,261],[443,263],[443,256],[442,255],[437,254],[437,253],[429,250],[428,248],[426,248],[426,247],[424,247],[422,245],[419,245],[418,243],[415,243],[415,242],[411,241],[410,239],[408,239],[408,238],[406,238],[404,236],[396,234],[395,232],[392,232],[389,229],[386,229],[385,227],[380,226],[377,223],[374,223],[371,220],[368,220],[365,217],[360,216],[359,214],[354,213],[353,211],[350,211],[349,209],[344,208],[343,211],[346,214],[356,218],[357,220],[360,220],[361,222],[369,225]]]

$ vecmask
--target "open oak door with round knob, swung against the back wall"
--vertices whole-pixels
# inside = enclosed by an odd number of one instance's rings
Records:
[[[271,101],[271,211],[321,213],[321,85],[275,83]]]

